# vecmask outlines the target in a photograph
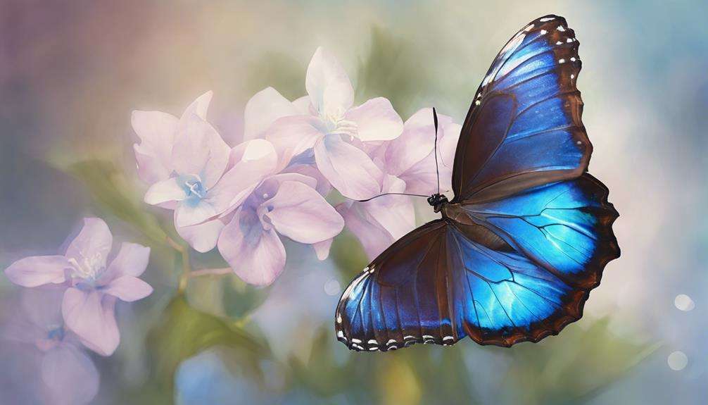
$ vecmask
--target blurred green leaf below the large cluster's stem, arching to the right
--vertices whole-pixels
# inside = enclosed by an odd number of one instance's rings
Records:
[[[212,346],[234,349],[242,370],[262,380],[260,362],[270,358],[270,350],[243,329],[224,319],[189,306],[183,295],[173,298],[164,318],[150,331],[147,344],[152,355],[153,380],[164,390],[173,389],[178,366]]]

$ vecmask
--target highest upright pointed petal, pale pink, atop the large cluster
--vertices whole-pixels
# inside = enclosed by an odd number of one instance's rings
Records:
[[[307,67],[305,89],[320,115],[341,116],[354,101],[354,88],[337,59],[317,48]]]

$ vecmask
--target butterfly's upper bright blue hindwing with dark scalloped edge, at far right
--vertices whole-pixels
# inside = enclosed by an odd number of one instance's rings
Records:
[[[592,288],[619,257],[607,187],[585,173],[489,203],[467,205],[480,223],[569,285]]]

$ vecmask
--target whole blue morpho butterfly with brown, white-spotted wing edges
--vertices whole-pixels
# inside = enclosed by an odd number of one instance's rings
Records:
[[[587,173],[580,69],[562,17],[538,18],[506,43],[464,120],[454,198],[431,195],[442,217],[348,285],[335,314],[339,341],[387,351],[469,336],[509,347],[581,318],[619,246],[607,187]]]

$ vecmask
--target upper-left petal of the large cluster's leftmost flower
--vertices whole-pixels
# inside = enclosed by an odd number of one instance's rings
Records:
[[[172,172],[172,144],[179,120],[161,111],[132,112],[130,122],[140,138],[133,145],[138,175],[146,183],[169,178]]]

